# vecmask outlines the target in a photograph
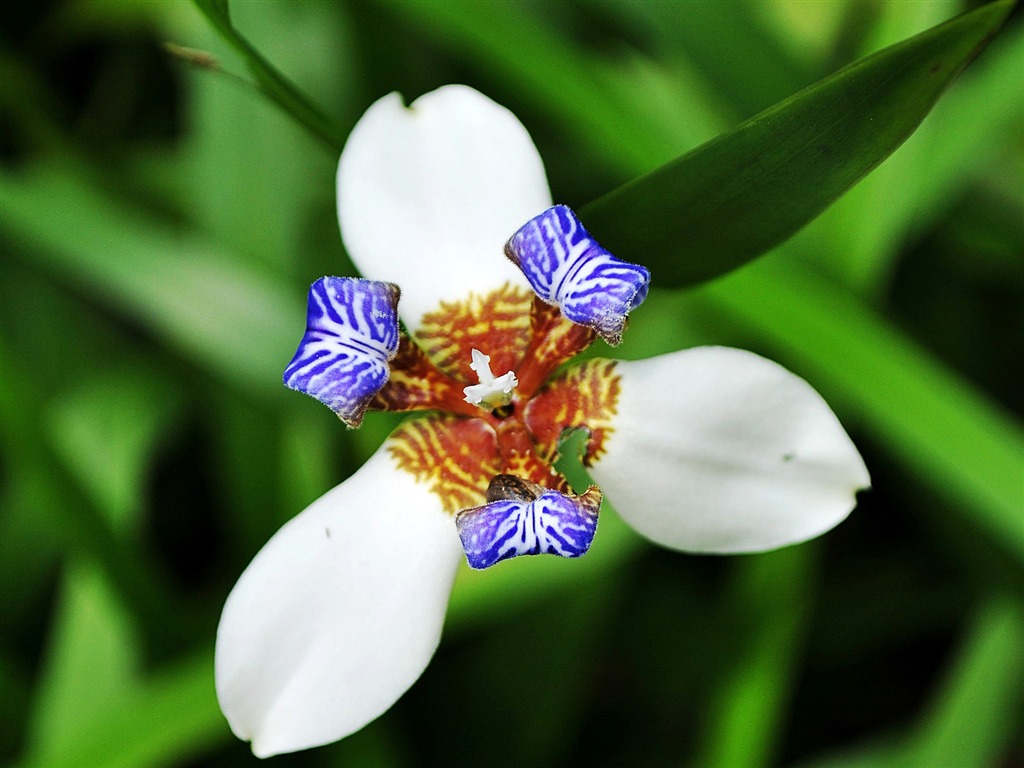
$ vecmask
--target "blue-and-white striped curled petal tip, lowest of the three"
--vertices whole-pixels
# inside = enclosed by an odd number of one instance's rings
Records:
[[[583,496],[570,497],[537,489],[540,493],[532,499],[511,495],[458,514],[456,526],[471,567],[487,568],[519,555],[580,557],[590,549],[601,492],[591,487]]]

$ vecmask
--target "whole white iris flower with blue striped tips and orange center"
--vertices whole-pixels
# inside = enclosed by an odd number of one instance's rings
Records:
[[[478,92],[373,104],[341,156],[338,213],[366,279],[313,284],[286,383],[349,426],[368,408],[424,413],[227,598],[217,694],[257,756],[380,716],[433,655],[460,562],[578,557],[605,495],[656,544],[740,553],[828,530],[868,484],[821,397],[756,354],[564,365],[596,336],[617,343],[649,275],[552,206],[526,130]],[[552,469],[573,428],[598,483],[580,496]]]

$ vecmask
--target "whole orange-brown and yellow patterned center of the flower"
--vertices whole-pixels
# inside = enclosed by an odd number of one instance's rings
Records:
[[[446,511],[483,504],[498,474],[567,493],[551,466],[565,429],[587,428],[588,455],[601,452],[618,396],[614,362],[590,360],[552,378],[594,339],[593,331],[566,321],[556,307],[505,286],[442,303],[415,339],[402,338],[390,380],[372,407],[438,412],[402,424],[390,451]],[[489,356],[494,371],[514,373],[516,386],[502,398],[507,402],[492,410],[467,402],[466,387],[482,381],[471,368],[474,349]]]

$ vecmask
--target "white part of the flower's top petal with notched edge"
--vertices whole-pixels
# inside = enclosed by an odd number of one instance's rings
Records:
[[[447,85],[410,108],[391,93],[352,129],[338,165],[342,239],[366,278],[401,287],[413,330],[442,299],[529,286],[505,242],[551,205],[526,129],[472,88]]]

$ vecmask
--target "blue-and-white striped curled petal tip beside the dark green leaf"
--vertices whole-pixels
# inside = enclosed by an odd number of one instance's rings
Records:
[[[627,315],[647,298],[650,272],[602,248],[565,206],[549,208],[509,239],[505,254],[566,319],[622,340]]]

